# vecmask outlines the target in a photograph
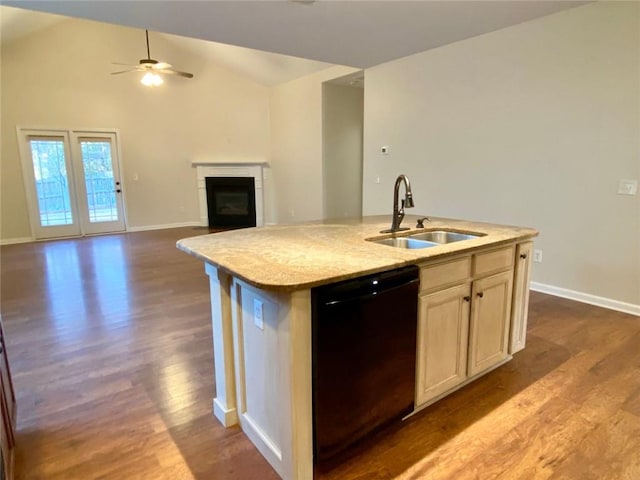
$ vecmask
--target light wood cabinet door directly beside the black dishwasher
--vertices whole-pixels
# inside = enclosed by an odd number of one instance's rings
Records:
[[[469,295],[465,283],[419,298],[416,406],[467,378]]]

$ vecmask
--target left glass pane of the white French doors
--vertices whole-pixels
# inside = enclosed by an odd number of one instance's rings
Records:
[[[29,140],[36,179],[40,225],[72,225],[63,140]]]

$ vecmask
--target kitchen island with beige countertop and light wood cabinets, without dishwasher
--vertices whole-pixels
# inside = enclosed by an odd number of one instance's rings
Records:
[[[407,216],[405,225],[418,217]],[[420,268],[415,411],[524,347],[531,228],[432,218],[382,234],[389,217],[250,228],[180,240],[210,279],[215,416],[285,479],[313,478],[312,289]],[[426,231],[476,238],[429,248],[375,243]]]

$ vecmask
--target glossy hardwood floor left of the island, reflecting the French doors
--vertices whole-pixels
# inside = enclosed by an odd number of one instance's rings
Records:
[[[208,282],[174,229],[3,246],[18,479],[275,479],[211,414]]]

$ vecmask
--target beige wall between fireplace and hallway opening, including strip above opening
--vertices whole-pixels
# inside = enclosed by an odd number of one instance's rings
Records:
[[[330,67],[272,89],[270,221],[323,218],[322,83],[356,71]]]

